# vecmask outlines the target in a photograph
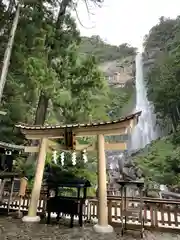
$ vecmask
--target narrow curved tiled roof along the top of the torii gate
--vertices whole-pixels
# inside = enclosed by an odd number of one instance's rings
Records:
[[[28,125],[24,123],[19,123],[15,125],[17,128],[21,129],[27,129],[27,130],[45,130],[45,129],[62,129],[62,128],[78,128],[78,127],[94,127],[94,126],[103,126],[103,125],[110,125],[110,124],[116,124],[116,123],[121,123],[124,121],[128,121],[134,118],[137,118],[141,115],[141,111],[136,112],[134,114],[128,115],[126,117],[121,117],[117,120],[113,121],[102,121],[102,122],[91,122],[91,123],[75,123],[75,124],[57,124],[57,125]]]

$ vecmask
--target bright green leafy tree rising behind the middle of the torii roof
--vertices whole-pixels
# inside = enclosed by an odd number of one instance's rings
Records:
[[[66,123],[87,122],[89,119],[107,119],[106,102],[108,86],[97,68],[94,57],[81,59],[76,49],[71,49],[70,57],[57,64],[66,101],[55,95],[54,106],[60,110],[59,121]],[[60,67],[59,67],[60,65]],[[62,70],[66,77],[62,76]],[[63,94],[60,92],[60,94]],[[62,96],[62,95],[61,95]]]

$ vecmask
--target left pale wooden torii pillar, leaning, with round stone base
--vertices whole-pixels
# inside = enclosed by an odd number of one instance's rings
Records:
[[[39,222],[40,217],[36,215],[37,206],[41,191],[42,179],[44,174],[44,166],[46,159],[46,151],[47,151],[47,138],[43,138],[40,144],[39,155],[36,166],[36,174],[34,179],[34,185],[31,195],[30,206],[28,210],[28,215],[23,217],[23,222]]]

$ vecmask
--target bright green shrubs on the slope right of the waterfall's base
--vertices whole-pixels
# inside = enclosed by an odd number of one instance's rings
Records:
[[[134,157],[134,161],[143,171],[147,182],[172,186],[177,184],[175,176],[179,174],[177,166],[180,158],[176,158],[177,151],[171,138],[164,138],[152,142]]]

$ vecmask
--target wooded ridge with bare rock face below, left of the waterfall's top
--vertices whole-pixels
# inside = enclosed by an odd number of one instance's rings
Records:
[[[82,54],[94,54],[110,85],[125,87],[132,83],[135,75],[136,48],[127,43],[113,46],[105,43],[99,36],[83,37]]]

